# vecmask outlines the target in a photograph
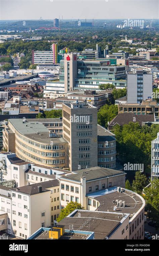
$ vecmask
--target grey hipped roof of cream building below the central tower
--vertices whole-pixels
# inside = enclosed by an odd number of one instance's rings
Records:
[[[98,180],[105,177],[110,177],[119,174],[126,174],[124,171],[108,169],[103,167],[90,167],[87,169],[77,170],[74,174],[64,176],[62,179],[81,181],[81,177],[86,177],[87,181]]]

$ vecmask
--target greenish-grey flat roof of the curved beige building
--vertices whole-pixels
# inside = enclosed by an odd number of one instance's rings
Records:
[[[37,142],[49,145],[51,141],[53,141],[54,145],[67,143],[62,137],[49,137],[49,129],[42,123],[23,122],[23,119],[9,119],[8,122],[11,123],[20,134]]]

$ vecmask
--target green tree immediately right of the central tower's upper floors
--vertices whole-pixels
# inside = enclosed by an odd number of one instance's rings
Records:
[[[114,117],[118,114],[118,106],[117,105],[104,105],[102,106],[97,114],[98,124],[104,127],[108,126],[108,122],[110,122]]]

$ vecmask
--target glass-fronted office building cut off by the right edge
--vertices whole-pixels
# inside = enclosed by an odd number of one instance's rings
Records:
[[[151,142],[151,180],[159,179],[159,132],[157,138]]]

